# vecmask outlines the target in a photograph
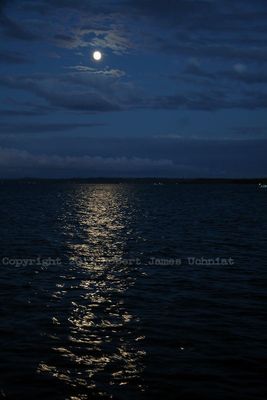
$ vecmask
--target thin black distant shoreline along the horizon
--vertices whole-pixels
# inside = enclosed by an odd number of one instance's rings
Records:
[[[0,178],[0,183],[91,183],[91,184],[267,184],[266,178]]]

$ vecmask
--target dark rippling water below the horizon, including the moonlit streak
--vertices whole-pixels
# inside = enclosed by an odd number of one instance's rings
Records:
[[[267,191],[0,191],[2,398],[267,398]]]

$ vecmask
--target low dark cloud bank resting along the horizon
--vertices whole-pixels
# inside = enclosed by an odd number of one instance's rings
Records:
[[[55,153],[54,148],[40,152],[0,147],[1,174],[6,176],[12,171],[13,177],[257,177],[267,170],[266,140],[109,138],[108,147],[101,138],[69,140],[73,140],[73,150],[70,153],[68,146],[65,154],[62,149]],[[80,152],[74,154],[77,146]],[[249,163],[252,159],[254,162]]]

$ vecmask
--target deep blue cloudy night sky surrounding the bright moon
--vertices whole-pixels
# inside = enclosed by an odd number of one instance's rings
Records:
[[[0,0],[0,34],[0,177],[267,175],[266,0]]]

